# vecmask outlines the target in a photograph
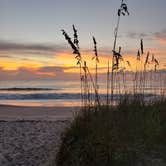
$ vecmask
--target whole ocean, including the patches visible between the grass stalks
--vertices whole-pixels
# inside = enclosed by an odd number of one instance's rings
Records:
[[[145,87],[146,96],[160,95],[166,88],[165,72],[155,79],[148,79]],[[102,101],[106,100],[106,80],[99,79],[99,93]],[[92,88],[92,87],[91,87]],[[114,85],[114,99],[120,94],[133,90],[133,78],[128,76],[124,80],[119,77]],[[94,97],[94,96],[92,96]],[[17,106],[80,106],[80,82],[58,80],[33,81],[0,81],[0,104]]]

